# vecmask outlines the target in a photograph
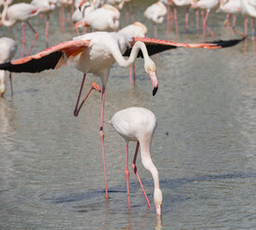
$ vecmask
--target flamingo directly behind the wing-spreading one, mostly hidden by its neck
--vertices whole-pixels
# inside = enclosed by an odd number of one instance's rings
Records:
[[[148,30],[144,24],[142,24],[140,21],[135,21],[134,23],[124,27],[119,32],[125,33],[128,36],[131,37],[145,37]],[[131,67],[129,67],[129,83],[132,83],[132,75],[133,75],[133,81],[135,82],[135,63],[132,66],[133,74],[131,73]]]

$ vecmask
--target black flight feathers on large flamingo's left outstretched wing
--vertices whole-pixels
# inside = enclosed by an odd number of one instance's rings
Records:
[[[54,69],[61,56],[61,51],[57,51],[45,57],[31,59],[21,64],[6,62],[4,64],[0,64],[0,70],[8,70],[11,72],[40,72],[43,70]]]

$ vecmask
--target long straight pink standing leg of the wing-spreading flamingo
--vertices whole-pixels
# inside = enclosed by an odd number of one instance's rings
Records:
[[[103,86],[102,87],[102,96],[101,96],[101,128],[100,128],[100,137],[101,137],[103,168],[104,168],[104,179],[105,179],[105,198],[109,199],[109,196],[108,196],[108,184],[107,184],[107,173],[106,173],[105,150],[104,150],[104,133],[103,133],[104,99],[105,99],[105,87]]]

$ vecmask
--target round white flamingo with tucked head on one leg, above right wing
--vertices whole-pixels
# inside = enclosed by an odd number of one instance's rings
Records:
[[[162,2],[158,1],[155,4],[148,6],[146,10],[144,11],[144,16],[147,19],[150,19],[154,23],[154,29],[155,29],[155,38],[157,37],[156,32],[156,24],[163,23],[165,16],[168,13],[167,6],[165,6]]]

